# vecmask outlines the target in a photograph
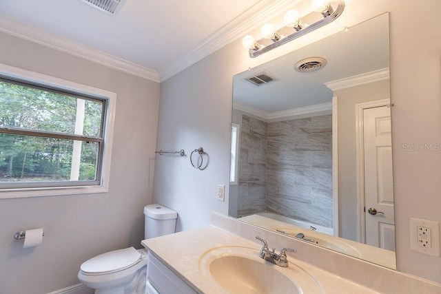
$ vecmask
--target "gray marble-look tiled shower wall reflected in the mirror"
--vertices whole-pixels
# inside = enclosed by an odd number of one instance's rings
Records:
[[[274,211],[333,227],[332,117],[265,123],[243,116],[239,215]]]

